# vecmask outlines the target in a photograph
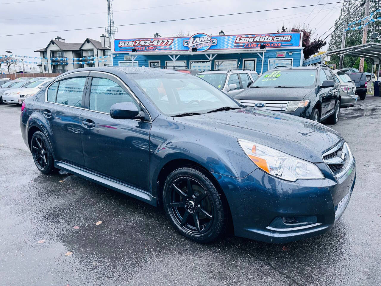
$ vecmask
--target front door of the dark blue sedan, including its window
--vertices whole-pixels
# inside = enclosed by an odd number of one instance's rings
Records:
[[[91,72],[81,115],[82,145],[87,169],[149,190],[149,130],[151,123],[142,119],[113,119],[110,108],[115,103],[138,99],[117,77]]]

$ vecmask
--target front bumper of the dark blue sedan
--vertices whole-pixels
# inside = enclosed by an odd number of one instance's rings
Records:
[[[245,178],[214,174],[232,214],[235,235],[286,243],[327,232],[343,214],[355,184],[355,161],[337,179],[325,163],[320,180],[288,182],[254,170]],[[285,223],[295,219],[296,222]]]

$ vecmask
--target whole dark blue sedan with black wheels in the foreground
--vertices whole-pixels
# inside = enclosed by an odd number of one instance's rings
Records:
[[[283,243],[328,231],[355,183],[339,133],[246,108],[198,77],[101,67],[62,74],[27,98],[22,137],[43,174],[66,170],[153,206],[200,243]]]

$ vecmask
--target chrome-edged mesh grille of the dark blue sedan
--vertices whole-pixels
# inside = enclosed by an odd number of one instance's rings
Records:
[[[352,156],[344,141],[323,154],[323,160],[331,169],[332,173],[339,177],[351,164]]]

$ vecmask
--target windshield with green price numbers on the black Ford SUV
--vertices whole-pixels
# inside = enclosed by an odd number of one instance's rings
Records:
[[[267,71],[250,86],[253,87],[314,87],[316,70],[287,69]]]

